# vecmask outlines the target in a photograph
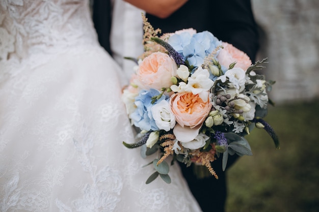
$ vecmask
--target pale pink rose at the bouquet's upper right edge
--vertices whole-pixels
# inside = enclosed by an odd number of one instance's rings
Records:
[[[237,49],[229,43],[222,42],[222,44],[224,48],[221,49],[217,55],[217,59],[221,65],[228,68],[230,64],[236,62],[234,67],[242,68],[244,71],[252,65],[249,56],[245,52]]]

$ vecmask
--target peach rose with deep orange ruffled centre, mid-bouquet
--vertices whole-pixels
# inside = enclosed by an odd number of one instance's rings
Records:
[[[175,93],[170,98],[170,106],[181,127],[195,128],[204,122],[212,105],[208,95],[207,100],[203,101],[198,94]]]

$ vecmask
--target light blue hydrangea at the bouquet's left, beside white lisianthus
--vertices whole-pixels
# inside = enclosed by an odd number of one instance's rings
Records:
[[[156,100],[154,104],[152,104],[151,98],[158,96],[159,94],[161,94],[161,92],[156,89],[143,89],[140,90],[139,95],[135,98],[135,105],[137,106],[137,109],[131,114],[131,119],[134,121],[134,125],[139,127],[141,130],[159,130],[155,124],[155,120],[153,119],[151,107],[157,102],[168,98],[163,95],[161,98]]]

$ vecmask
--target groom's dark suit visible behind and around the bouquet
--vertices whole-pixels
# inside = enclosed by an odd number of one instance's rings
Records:
[[[95,27],[101,45],[109,50],[110,16],[105,12],[109,7],[105,0],[94,0],[93,13]],[[101,5],[102,4],[102,5]],[[104,14],[103,16],[101,14]],[[110,13],[109,13],[110,14]],[[106,15],[106,16],[105,16]],[[102,17],[104,20],[102,20]],[[258,50],[257,26],[253,17],[250,0],[189,0],[178,11],[166,19],[147,14],[148,21],[154,28],[161,28],[162,33],[171,33],[183,28],[194,28],[197,32],[209,31],[218,39],[231,43],[243,50],[255,62]],[[110,52],[110,50],[109,50]],[[112,54],[112,52],[110,52]],[[229,167],[237,157],[228,160]],[[222,171],[221,160],[212,163],[219,179],[208,177],[197,179],[192,168],[181,169],[189,187],[203,211],[224,211],[226,200],[226,175]]]

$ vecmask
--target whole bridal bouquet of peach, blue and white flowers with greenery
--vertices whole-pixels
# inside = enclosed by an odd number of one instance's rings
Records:
[[[141,136],[123,144],[142,146],[142,157],[161,153],[150,163],[156,171],[146,183],[158,175],[171,182],[169,158],[205,166],[218,178],[211,162],[222,157],[225,170],[228,155],[252,155],[244,136],[254,127],[266,130],[279,148],[262,119],[274,82],[255,72],[266,59],[253,65],[247,54],[207,31],[190,28],[158,37],[159,29],[143,18],[145,52],[122,99]]]

